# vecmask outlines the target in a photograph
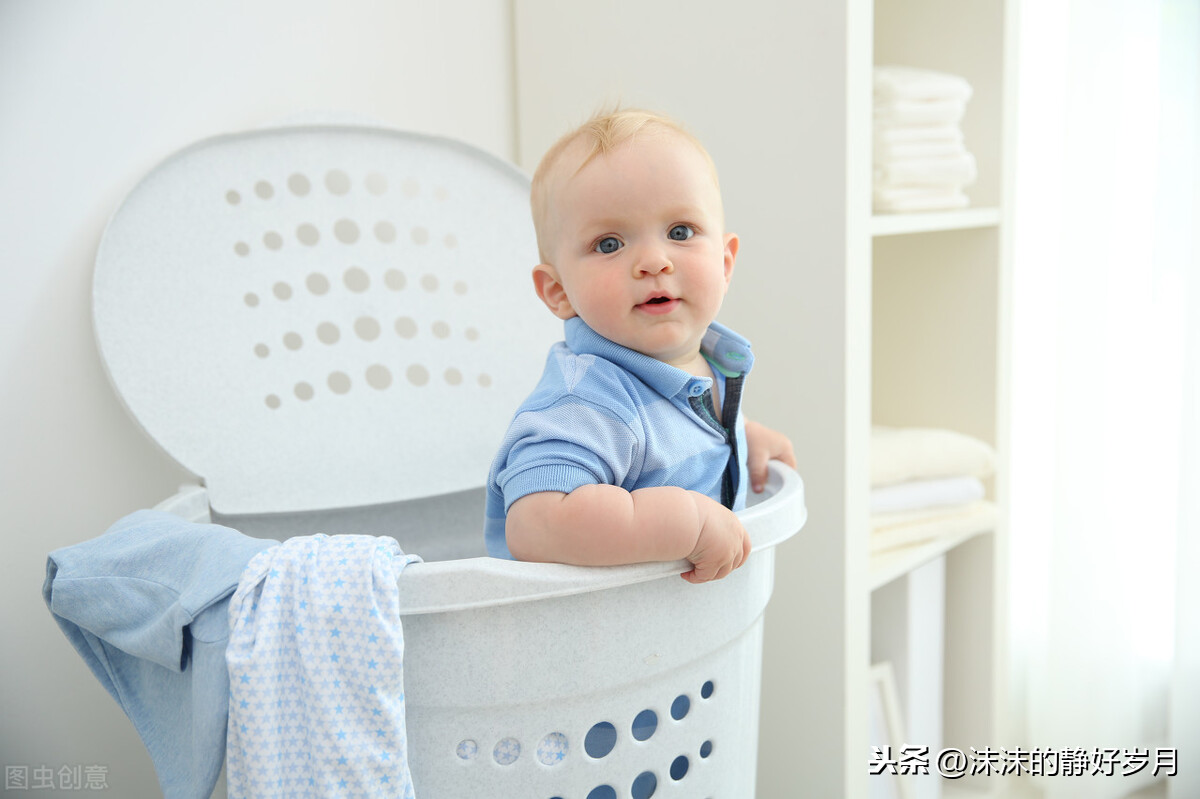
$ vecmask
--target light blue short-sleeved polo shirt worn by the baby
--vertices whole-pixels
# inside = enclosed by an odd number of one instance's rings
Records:
[[[626,491],[679,486],[732,510],[745,506],[742,384],[750,343],[713,323],[701,352],[722,383],[721,417],[710,378],[695,377],[566,320],[533,394],[517,409],[487,479],[484,537],[496,558],[512,558],[508,510],[526,494],[570,493],[607,483]]]

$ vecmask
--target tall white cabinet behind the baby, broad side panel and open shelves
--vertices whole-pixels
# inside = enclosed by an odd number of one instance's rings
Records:
[[[871,591],[943,552],[946,740],[1003,745],[1003,521],[872,576],[868,503],[872,420],[960,429],[1004,462],[1014,2],[514,0],[518,163],[600,106],[666,112],[713,155],[742,239],[721,320],[754,342],[748,414],[791,437],[809,503],[766,612],[758,799],[868,795]],[[974,88],[970,208],[872,216],[884,61]],[[1003,509],[1003,465],[989,492]]]

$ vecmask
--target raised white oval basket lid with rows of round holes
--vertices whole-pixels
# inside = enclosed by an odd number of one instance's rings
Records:
[[[529,181],[445,138],[277,127],[194,144],[96,256],[101,356],[224,513],[480,486],[560,323]]]

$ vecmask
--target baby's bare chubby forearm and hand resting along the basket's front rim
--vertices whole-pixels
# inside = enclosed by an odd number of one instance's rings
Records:
[[[517,560],[608,566],[686,558],[692,583],[720,579],[750,554],[750,536],[730,509],[671,486],[629,492],[587,485],[512,503],[505,522]]]

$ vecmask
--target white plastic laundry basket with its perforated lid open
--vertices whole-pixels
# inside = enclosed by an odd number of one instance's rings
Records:
[[[762,612],[804,523],[773,465],[754,554],[587,569],[484,557],[480,487],[560,323],[529,283],[528,179],[347,125],[175,154],[101,241],[118,394],[203,486],[161,509],[251,535],[392,535],[421,799],[754,795]]]

